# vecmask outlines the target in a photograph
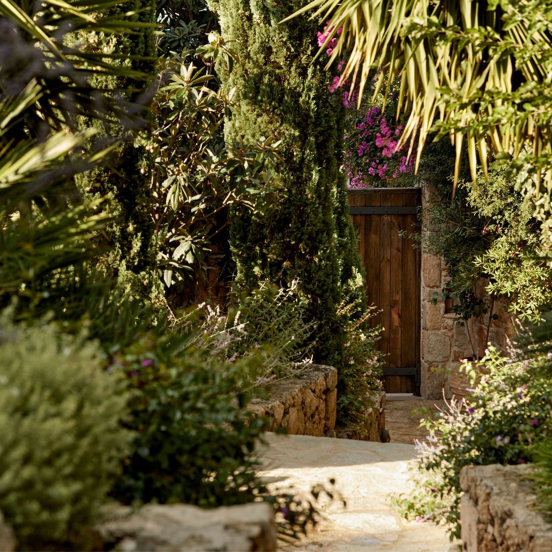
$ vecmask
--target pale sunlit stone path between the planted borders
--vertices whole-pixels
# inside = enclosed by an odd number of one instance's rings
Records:
[[[281,550],[451,550],[442,527],[405,522],[391,508],[391,496],[412,489],[408,468],[416,458],[413,445],[274,433],[267,440],[261,475],[270,487],[293,486],[296,494],[304,495],[333,478],[347,502],[346,507],[338,501],[322,502],[323,521],[315,531],[300,543],[282,543]]]

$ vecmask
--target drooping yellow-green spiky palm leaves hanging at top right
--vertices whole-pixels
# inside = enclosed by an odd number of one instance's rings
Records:
[[[498,157],[513,156],[518,171],[533,173],[526,191],[546,218],[552,190],[550,0],[314,0],[291,17],[313,9],[312,17],[331,19],[328,41],[337,38],[328,67],[347,51],[342,81],[358,82],[359,98],[370,70],[382,71],[378,89],[401,76],[399,104],[410,109],[401,141],[413,145],[418,136],[417,165],[437,119],[456,148],[455,182],[464,144],[474,181],[477,157],[486,173],[492,146]]]

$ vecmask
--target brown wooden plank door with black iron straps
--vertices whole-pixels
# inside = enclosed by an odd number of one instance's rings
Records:
[[[378,348],[388,393],[420,394],[421,254],[407,236],[417,230],[420,200],[420,188],[349,190],[368,304],[380,310],[371,323],[384,328]]]

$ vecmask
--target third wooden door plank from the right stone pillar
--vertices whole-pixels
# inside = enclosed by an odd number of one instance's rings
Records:
[[[381,193],[381,206],[391,204],[391,193],[389,190]],[[384,368],[389,368],[389,346],[390,346],[390,283],[391,283],[391,216],[380,215],[380,323],[384,328],[379,340],[379,350],[383,353]],[[390,391],[395,392],[395,391]]]

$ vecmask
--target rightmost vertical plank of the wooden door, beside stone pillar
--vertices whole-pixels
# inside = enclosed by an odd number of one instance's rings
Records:
[[[416,194],[404,194],[403,204],[416,205]],[[416,215],[403,215],[401,230],[407,234],[415,231]],[[401,357],[402,366],[414,368],[416,366],[416,249],[414,242],[409,237],[402,238],[402,276],[401,276],[401,308],[402,308],[402,334]],[[401,392],[413,393],[416,390],[416,377],[404,376],[401,379]]]

